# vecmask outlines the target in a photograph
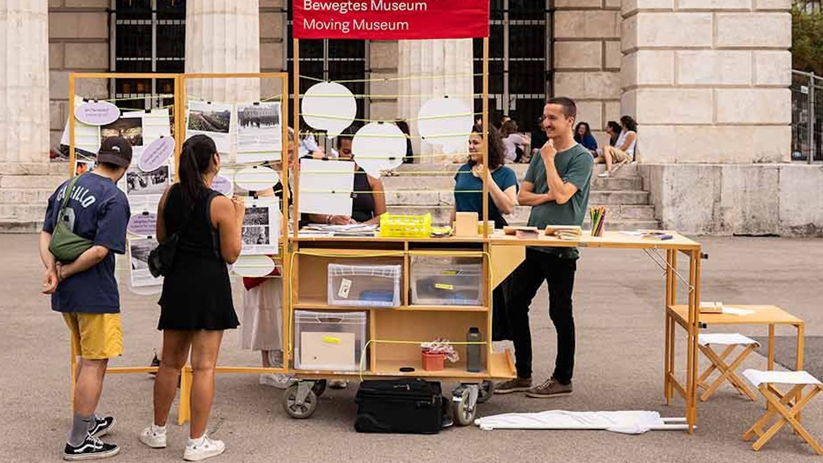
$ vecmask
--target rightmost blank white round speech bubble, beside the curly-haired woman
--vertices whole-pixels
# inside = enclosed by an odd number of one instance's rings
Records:
[[[466,151],[474,114],[463,100],[432,98],[417,113],[417,132],[431,145],[443,146],[444,153]]]

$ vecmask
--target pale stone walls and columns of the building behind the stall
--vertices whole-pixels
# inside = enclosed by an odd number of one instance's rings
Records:
[[[184,70],[289,70],[285,1],[188,0]],[[518,1],[499,2],[514,11]],[[67,174],[65,164],[49,163],[70,113],[67,76],[118,69],[118,4],[0,3],[0,27],[19,31],[7,34],[2,50],[3,65],[17,71],[0,83],[7,104],[0,114],[7,134],[0,141],[2,229],[35,230],[50,188]],[[664,226],[695,234],[820,234],[823,168],[789,162],[790,7],[791,0],[548,1],[546,69],[535,72],[546,72],[546,96],[578,102],[579,120],[601,142],[608,120],[635,116],[639,171]],[[471,40],[363,47],[370,78],[475,69],[467,58]],[[111,85],[81,81],[77,94],[107,98]],[[472,88],[471,78],[373,82],[365,90],[378,96],[366,111],[396,118],[416,113],[422,100],[391,95]],[[270,90],[218,84],[197,91],[239,99]]]

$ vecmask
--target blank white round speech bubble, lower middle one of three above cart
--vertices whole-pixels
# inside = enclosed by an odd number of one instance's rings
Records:
[[[406,135],[393,123],[368,123],[351,140],[351,153],[367,174],[379,177],[403,163]]]

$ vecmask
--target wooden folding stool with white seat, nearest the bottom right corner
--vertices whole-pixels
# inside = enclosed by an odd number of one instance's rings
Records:
[[[755,434],[759,437],[751,448],[755,451],[769,442],[770,438],[783,428],[784,424],[791,424],[794,432],[803,438],[818,455],[823,455],[823,447],[811,437],[811,434],[800,424],[799,416],[803,407],[808,405],[811,399],[823,391],[823,384],[807,372],[774,372],[747,369],[743,371],[743,376],[754,384],[760,391],[767,403],[767,411],[755,424],[751,425],[743,434],[744,441],[750,441]],[[779,391],[773,384],[790,384],[793,387],[786,393]],[[809,388],[809,392],[804,393],[804,389]],[[766,431],[763,427],[770,422],[774,415],[779,414],[779,419]]]

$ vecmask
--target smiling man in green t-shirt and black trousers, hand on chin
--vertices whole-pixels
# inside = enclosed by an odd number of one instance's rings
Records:
[[[574,141],[577,107],[568,98],[552,98],[543,108],[542,124],[549,141],[532,156],[518,195],[522,206],[532,206],[528,225],[583,225],[592,179],[592,155]],[[574,317],[572,289],[577,269],[577,248],[526,248],[526,259],[512,275],[509,322],[514,340],[518,377],[495,387],[506,394],[526,391],[529,397],[571,394],[574,371]],[[528,309],[546,281],[549,316],[557,331],[555,371],[545,382],[532,387],[532,333]]]

